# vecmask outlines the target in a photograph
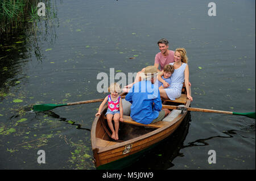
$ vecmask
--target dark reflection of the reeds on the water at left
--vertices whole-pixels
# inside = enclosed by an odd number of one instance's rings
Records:
[[[26,82],[23,68],[33,57],[42,63],[42,42],[54,44],[57,39],[56,27],[59,27],[56,1],[45,1],[46,18],[35,15],[24,21],[24,28],[16,28],[13,34],[0,37],[0,100],[9,94],[10,87]],[[31,7],[33,8],[33,7]],[[36,8],[36,7],[35,7]]]

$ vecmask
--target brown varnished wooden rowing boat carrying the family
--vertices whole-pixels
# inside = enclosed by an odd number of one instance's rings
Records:
[[[187,99],[186,90],[180,98],[174,101],[163,100],[164,104],[189,107],[191,101]],[[123,107],[124,103],[123,103]],[[119,122],[119,140],[115,141],[110,136],[110,130],[106,121],[105,112],[107,106],[102,109],[101,116],[96,116],[91,130],[91,142],[94,156],[94,164],[97,169],[122,169],[133,163],[139,155],[151,149],[170,136],[183,121],[188,111],[171,110],[171,113],[154,124],[140,124],[123,115],[125,121]]]

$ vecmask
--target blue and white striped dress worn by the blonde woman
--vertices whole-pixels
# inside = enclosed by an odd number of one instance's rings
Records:
[[[174,65],[174,62],[170,65]],[[171,86],[164,89],[170,100],[175,100],[181,95],[181,90],[184,82],[184,71],[187,64],[182,63],[177,69],[174,69],[174,73],[171,75]]]

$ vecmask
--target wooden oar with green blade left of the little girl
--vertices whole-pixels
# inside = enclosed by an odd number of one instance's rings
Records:
[[[121,96],[121,98],[125,98],[125,96]],[[84,100],[80,102],[75,102],[75,103],[67,103],[67,104],[35,104],[33,106],[34,111],[49,111],[53,110],[56,107],[61,107],[61,106],[73,106],[73,105],[78,105],[78,104],[88,104],[88,103],[97,103],[97,102],[102,102],[104,99],[93,99],[93,100]]]

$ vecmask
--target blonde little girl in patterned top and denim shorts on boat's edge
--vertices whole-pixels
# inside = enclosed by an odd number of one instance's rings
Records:
[[[112,138],[114,140],[118,140],[118,129],[119,129],[119,121],[123,122],[123,106],[122,106],[122,99],[119,96],[119,92],[121,92],[120,86],[118,83],[112,83],[109,87],[110,95],[106,96],[106,98],[101,103],[100,107],[98,108],[98,112],[96,116],[101,115],[101,110],[108,102],[108,110],[106,112],[106,118],[108,120],[108,125],[110,130],[112,131]],[[112,124],[112,118],[114,117],[114,125]]]

